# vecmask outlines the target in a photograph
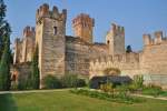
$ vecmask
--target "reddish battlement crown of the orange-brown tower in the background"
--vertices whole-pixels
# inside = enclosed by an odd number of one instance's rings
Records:
[[[90,18],[89,14],[80,13],[72,20],[72,27],[81,24],[82,27],[95,27],[95,19]]]

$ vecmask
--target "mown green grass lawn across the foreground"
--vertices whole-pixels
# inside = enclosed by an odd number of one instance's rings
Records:
[[[55,91],[0,94],[0,111],[167,111],[167,101],[147,99],[125,104]]]

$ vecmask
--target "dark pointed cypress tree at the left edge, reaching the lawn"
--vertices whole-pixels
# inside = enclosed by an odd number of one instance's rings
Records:
[[[0,90],[10,90],[10,38],[7,38],[0,62]]]

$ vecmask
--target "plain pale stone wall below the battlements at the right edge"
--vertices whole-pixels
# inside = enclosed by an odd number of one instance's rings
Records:
[[[167,44],[147,46],[144,48],[141,69],[146,74],[167,74]]]

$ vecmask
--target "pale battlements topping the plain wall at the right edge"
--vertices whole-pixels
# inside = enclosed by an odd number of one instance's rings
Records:
[[[151,34],[143,34],[144,46],[154,46],[154,44],[161,44],[167,43],[167,38],[163,36],[163,31],[156,31],[153,36]]]

